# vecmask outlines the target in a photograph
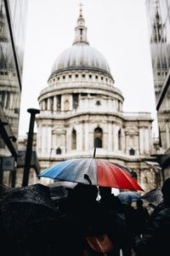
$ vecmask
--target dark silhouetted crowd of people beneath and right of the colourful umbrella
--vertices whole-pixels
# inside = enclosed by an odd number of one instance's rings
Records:
[[[99,187],[98,190],[94,186],[77,184],[65,201],[65,212],[69,212],[74,226],[74,232],[68,236],[71,244],[65,250],[71,253],[72,249],[72,253],[79,256],[101,255],[102,252],[108,256],[166,255],[170,224],[170,178],[163,183],[161,192],[163,200],[149,213],[141,199],[132,206],[132,202],[122,202],[111,194],[111,188]],[[61,212],[65,208],[62,204],[59,206]],[[110,241],[105,241],[105,235]],[[87,237],[98,240],[98,236],[103,236],[108,243],[107,248],[102,242],[95,241],[101,243],[103,251],[102,248],[99,251],[94,240],[87,240]],[[69,255],[69,252],[62,251],[60,255]]]

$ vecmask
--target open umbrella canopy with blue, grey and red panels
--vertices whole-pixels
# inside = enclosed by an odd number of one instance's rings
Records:
[[[65,160],[44,170],[38,177],[117,189],[143,190],[121,166],[95,158]]]

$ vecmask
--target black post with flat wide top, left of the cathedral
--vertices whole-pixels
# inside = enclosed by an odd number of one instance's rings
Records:
[[[36,108],[29,108],[29,109],[27,109],[27,112],[31,113],[31,118],[30,118],[30,126],[29,126],[27,145],[26,145],[26,159],[25,159],[22,187],[25,187],[28,185],[30,166],[31,166],[31,152],[32,152],[32,141],[33,141],[35,116],[37,113],[40,113],[40,111]]]

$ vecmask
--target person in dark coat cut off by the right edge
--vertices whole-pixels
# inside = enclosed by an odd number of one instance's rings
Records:
[[[133,250],[138,256],[169,255],[170,177],[164,181],[161,192],[163,201],[151,213],[144,235],[133,238]]]

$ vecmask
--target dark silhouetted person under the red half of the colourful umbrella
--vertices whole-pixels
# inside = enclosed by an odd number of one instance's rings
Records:
[[[127,240],[127,224],[123,212],[122,201],[120,201],[116,195],[111,194],[111,188],[99,187],[99,195],[99,202],[105,207],[106,211],[109,213],[109,218],[111,219],[109,236],[114,244],[114,251],[109,255],[119,256],[120,250],[124,247],[125,241]]]

